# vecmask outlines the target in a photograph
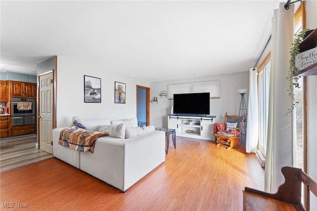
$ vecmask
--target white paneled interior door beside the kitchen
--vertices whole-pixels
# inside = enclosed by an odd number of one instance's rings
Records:
[[[53,72],[40,76],[39,93],[40,149],[53,154]]]

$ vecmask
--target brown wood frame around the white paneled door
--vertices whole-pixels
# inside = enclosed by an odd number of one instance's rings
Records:
[[[40,76],[46,75],[52,73],[53,77],[53,105],[52,105],[52,121],[53,121],[53,128],[56,128],[56,71],[55,69],[46,71],[46,72],[41,72],[38,74],[37,77],[37,98],[36,98],[36,106],[37,106],[37,138],[38,138],[38,149],[40,149],[40,118],[39,118],[39,113],[40,113]],[[52,128],[52,130],[53,130]]]

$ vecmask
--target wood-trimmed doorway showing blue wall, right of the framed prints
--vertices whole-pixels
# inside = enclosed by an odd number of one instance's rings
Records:
[[[150,125],[150,88],[137,85],[137,119]]]

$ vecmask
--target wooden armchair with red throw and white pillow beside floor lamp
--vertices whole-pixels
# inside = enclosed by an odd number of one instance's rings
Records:
[[[244,121],[244,114],[224,115],[223,124],[215,123],[213,126],[213,135],[215,136],[216,146],[225,147],[227,150],[240,145],[241,131]]]

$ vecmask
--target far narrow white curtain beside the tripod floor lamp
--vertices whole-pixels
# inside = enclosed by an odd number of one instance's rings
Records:
[[[246,152],[256,153],[259,140],[258,69],[250,69]]]

